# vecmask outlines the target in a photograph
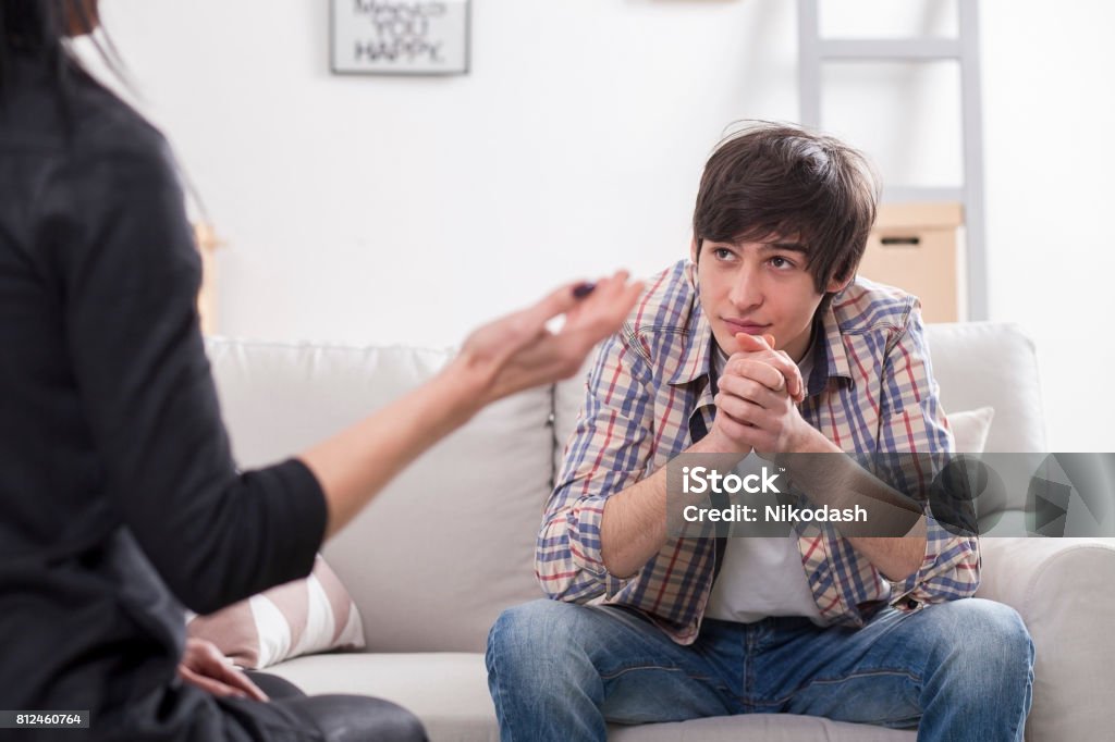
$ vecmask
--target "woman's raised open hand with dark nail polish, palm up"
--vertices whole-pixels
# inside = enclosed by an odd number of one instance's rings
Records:
[[[623,324],[642,284],[628,274],[591,284],[562,286],[539,303],[473,332],[450,367],[486,404],[516,391],[568,379],[601,340]],[[550,320],[565,315],[556,332]]]

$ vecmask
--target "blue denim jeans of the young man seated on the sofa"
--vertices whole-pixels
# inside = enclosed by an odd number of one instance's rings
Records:
[[[1012,608],[980,598],[884,608],[860,629],[706,619],[691,646],[623,608],[542,599],[500,616],[487,671],[503,742],[746,713],[993,742],[1022,739],[1034,644]]]

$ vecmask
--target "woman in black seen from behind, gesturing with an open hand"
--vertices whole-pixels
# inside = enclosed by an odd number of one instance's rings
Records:
[[[323,538],[426,448],[574,373],[640,287],[622,273],[564,286],[386,409],[240,473],[165,140],[68,48],[97,25],[97,0],[0,2],[0,710],[88,710],[81,739],[421,739],[382,701],[281,682],[263,701],[187,647],[182,605],[209,613],[309,574]],[[17,739],[51,734],[72,732]]]

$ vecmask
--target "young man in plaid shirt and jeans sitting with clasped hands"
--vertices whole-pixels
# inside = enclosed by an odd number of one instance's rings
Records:
[[[924,494],[923,463],[952,437],[918,300],[855,279],[875,202],[870,166],[831,137],[763,124],[712,154],[689,260],[648,282],[589,373],[537,540],[552,599],[492,628],[505,742],[743,713],[1021,740],[1032,644],[1011,608],[971,597],[975,537],[921,506],[891,538],[843,524],[725,539],[667,528],[667,463],[681,453],[752,468],[756,452],[917,455],[888,484]],[[805,494],[847,504],[854,478]]]

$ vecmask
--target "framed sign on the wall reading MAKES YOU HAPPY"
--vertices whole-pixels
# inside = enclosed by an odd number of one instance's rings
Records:
[[[469,0],[329,0],[338,75],[464,75]]]

